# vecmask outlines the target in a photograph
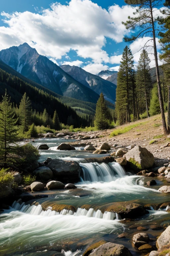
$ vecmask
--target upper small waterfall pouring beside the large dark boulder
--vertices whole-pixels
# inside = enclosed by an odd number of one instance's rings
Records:
[[[116,162],[113,163],[79,163],[83,170],[82,180],[84,182],[111,182],[117,178],[127,175],[122,166]]]

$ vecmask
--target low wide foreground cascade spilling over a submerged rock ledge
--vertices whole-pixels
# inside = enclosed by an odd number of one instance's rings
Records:
[[[27,213],[30,215],[41,215],[41,216],[54,216],[54,215],[74,215],[74,216],[86,216],[89,218],[99,218],[99,219],[105,219],[105,220],[121,220],[121,216],[116,213],[116,212],[107,212],[105,211],[104,213],[102,213],[100,210],[95,211],[93,208],[90,208],[89,210],[86,210],[84,208],[78,208],[76,212],[73,212],[71,210],[66,210],[63,209],[60,212],[56,212],[56,211],[52,211],[50,208],[48,207],[48,209],[46,211],[42,210],[42,206],[39,205],[26,205],[25,203],[18,203],[16,201],[13,202],[12,204],[12,208],[23,212],[23,213]]]

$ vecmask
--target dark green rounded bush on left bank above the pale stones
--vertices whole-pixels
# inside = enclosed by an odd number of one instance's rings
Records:
[[[40,153],[36,147],[27,143],[23,146],[16,146],[16,156],[15,167],[24,170],[39,160]]]

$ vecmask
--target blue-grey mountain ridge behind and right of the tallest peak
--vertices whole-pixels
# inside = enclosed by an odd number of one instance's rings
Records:
[[[97,75],[93,75],[82,68],[70,65],[60,66],[67,74],[74,79],[85,85],[87,88],[91,88],[96,93],[103,92],[105,99],[111,103],[115,103],[116,100],[116,85],[107,81]]]

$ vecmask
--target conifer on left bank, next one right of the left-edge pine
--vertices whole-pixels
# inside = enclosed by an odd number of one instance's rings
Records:
[[[19,106],[19,120],[21,123],[21,131],[27,132],[31,122],[31,101],[24,93]]]

